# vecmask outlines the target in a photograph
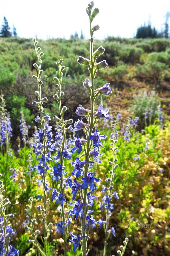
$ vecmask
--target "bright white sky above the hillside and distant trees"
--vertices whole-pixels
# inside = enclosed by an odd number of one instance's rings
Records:
[[[19,37],[38,39],[70,38],[71,34],[81,29],[86,38],[89,35],[89,20],[86,7],[87,0],[0,0],[0,26],[3,16]],[[165,14],[170,12],[169,0],[94,0],[94,8],[99,14],[92,25],[98,24],[100,29],[94,33],[95,38],[107,36],[130,38],[136,34],[150,17],[151,26],[157,30],[164,29]],[[170,19],[169,19],[170,24]]]

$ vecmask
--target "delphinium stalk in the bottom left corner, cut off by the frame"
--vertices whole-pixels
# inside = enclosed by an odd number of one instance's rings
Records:
[[[0,174],[0,177],[2,174]],[[15,255],[19,256],[19,249],[15,249],[13,245],[10,245],[10,237],[15,235],[17,232],[14,232],[11,226],[7,225],[7,221],[14,218],[14,214],[8,213],[5,211],[7,207],[11,206],[9,199],[3,198],[3,194],[5,193],[3,187],[3,181],[0,180],[0,255]]]

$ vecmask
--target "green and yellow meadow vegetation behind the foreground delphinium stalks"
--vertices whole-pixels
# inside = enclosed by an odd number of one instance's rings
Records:
[[[53,77],[59,75],[56,61],[63,59],[65,71],[63,72],[62,106],[67,106],[65,118],[77,120],[75,111],[78,104],[88,108],[89,95],[82,82],[89,73],[85,66],[79,65],[79,56],[88,56],[89,40],[71,38],[39,40],[43,49],[42,57],[42,97],[48,97],[44,104],[44,113],[51,117],[58,115],[59,106],[53,98],[56,93]],[[170,94],[170,39],[135,39],[108,37],[105,40],[95,40],[94,47],[105,48],[105,52],[98,57],[98,61],[105,59],[108,63],[106,69],[97,73],[95,83],[97,88],[106,81],[110,83],[112,94],[110,98],[100,95],[95,106],[104,104],[110,109],[112,118],[102,121],[98,126],[101,135],[108,135],[103,140],[101,161],[95,163],[95,173],[101,179],[99,189],[95,193],[92,209],[95,220],[105,218],[101,211],[100,202],[103,195],[102,186],[106,185],[105,178],[109,177],[112,161],[111,133],[117,131],[116,158],[118,167],[115,171],[114,189],[119,200],[114,198],[114,210],[109,225],[114,227],[116,237],[110,237],[107,245],[107,255],[113,255],[119,245],[123,244],[125,237],[129,242],[125,255],[151,255],[163,256],[170,253],[170,123],[169,123],[169,94]],[[37,210],[43,186],[37,186],[39,175],[34,166],[38,166],[33,141],[36,133],[34,119],[39,115],[32,101],[36,100],[35,90],[37,83],[32,79],[36,75],[33,65],[37,63],[33,42],[25,38],[0,38],[0,94],[1,98],[1,129],[2,120],[9,115],[12,134],[8,141],[8,149],[1,140],[0,173],[5,189],[5,197],[11,202],[7,213],[12,212],[15,217],[10,220],[17,234],[11,237],[11,243],[20,249],[20,255],[40,255],[36,248],[26,241],[29,234],[25,232],[25,205],[28,199],[34,198],[32,207],[33,216],[39,216],[37,225],[43,236],[40,222],[40,212]],[[80,90],[81,88],[81,90]],[[3,110],[3,99],[5,105]],[[7,114],[8,113],[8,114]],[[115,126],[117,114],[122,116]],[[135,119],[139,117],[139,119]],[[20,121],[21,120],[21,121]],[[25,127],[20,124],[25,122]],[[58,126],[51,120],[52,132],[55,134]],[[40,126],[38,126],[40,127]],[[115,128],[116,127],[116,128]],[[25,130],[24,130],[25,129]],[[116,129],[116,130],[115,130]],[[81,132],[80,132],[81,134]],[[24,137],[25,136],[25,137]],[[76,133],[66,136],[66,141],[73,139]],[[24,139],[23,139],[24,138]],[[2,134],[0,135],[2,139]],[[54,135],[53,135],[54,139]],[[19,146],[18,146],[19,145]],[[12,148],[9,150],[9,148]],[[71,149],[71,146],[69,146]],[[72,154],[72,160],[76,153]],[[51,163],[50,163],[51,164]],[[64,162],[65,171],[71,175],[73,167]],[[30,169],[32,168],[32,169]],[[105,177],[105,178],[104,178]],[[55,188],[56,181],[47,174],[48,186]],[[52,191],[52,190],[51,190]],[[52,192],[49,192],[51,195]],[[72,195],[67,190],[66,198],[71,201]],[[67,207],[67,206],[66,206]],[[49,201],[48,218],[56,222],[59,212],[56,205]],[[79,222],[75,220],[74,230],[79,230]],[[53,234],[48,243],[54,246],[54,253],[63,253],[63,239],[53,226]],[[90,230],[88,247],[89,255],[103,255],[105,233],[99,228]],[[43,241],[38,238],[40,246]],[[69,248],[72,243],[68,242]],[[81,251],[68,250],[68,256],[81,255]]]

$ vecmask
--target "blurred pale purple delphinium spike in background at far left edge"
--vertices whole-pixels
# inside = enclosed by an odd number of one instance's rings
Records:
[[[6,153],[8,152],[8,146],[10,137],[12,137],[12,128],[10,122],[10,115],[5,109],[5,100],[4,95],[0,96],[1,105],[0,105],[0,146],[2,148],[3,144],[6,146]]]

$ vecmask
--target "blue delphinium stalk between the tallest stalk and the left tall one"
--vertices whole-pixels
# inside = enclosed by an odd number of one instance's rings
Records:
[[[64,171],[64,161],[68,161],[71,159],[71,156],[76,150],[78,150],[78,153],[82,151],[82,140],[79,139],[78,135],[75,137],[74,141],[69,140],[67,142],[66,140],[66,133],[70,133],[72,131],[79,131],[81,127],[84,127],[84,123],[81,120],[78,120],[75,124],[75,128],[72,127],[73,120],[67,119],[64,120],[64,113],[67,110],[66,106],[61,106],[61,99],[64,95],[64,92],[61,90],[62,86],[62,77],[63,77],[63,70],[65,69],[65,66],[62,65],[63,59],[60,59],[56,62],[58,69],[59,69],[59,78],[54,77],[54,81],[56,82],[56,89],[57,92],[54,95],[54,99],[58,101],[59,105],[59,116],[54,115],[54,121],[56,121],[56,126],[58,127],[56,136],[55,136],[55,142],[52,144],[52,149],[55,151],[54,156],[52,158],[55,160],[55,163],[58,163],[58,165],[53,166],[54,171],[50,172],[50,174],[53,176],[53,180],[56,180],[57,185],[55,188],[53,188],[52,192],[52,201],[55,200],[56,205],[60,205],[61,210],[59,210],[61,221],[58,222],[59,225],[57,226],[57,232],[60,228],[60,232],[63,235],[64,240],[64,256],[66,256],[67,253],[67,239],[69,237],[69,229],[71,221],[69,219],[70,212],[68,211],[67,214],[65,213],[65,188],[72,187],[73,191],[71,194],[73,194],[73,199],[76,195],[76,186],[78,187],[78,184],[76,183],[76,180],[73,184],[71,177],[64,177],[67,172]],[[81,108],[81,106],[80,106]],[[84,111],[84,110],[83,110]],[[82,113],[80,113],[80,116]],[[85,124],[86,125],[86,124]],[[70,144],[73,144],[74,147],[72,150],[70,149]],[[77,166],[76,166],[77,168]],[[59,186],[59,187],[57,187]],[[62,228],[61,228],[62,223]]]

